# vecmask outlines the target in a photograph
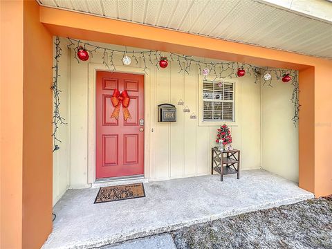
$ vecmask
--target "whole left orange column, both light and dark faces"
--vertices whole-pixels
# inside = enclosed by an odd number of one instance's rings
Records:
[[[35,249],[52,230],[52,36],[36,1],[0,6],[0,248]]]

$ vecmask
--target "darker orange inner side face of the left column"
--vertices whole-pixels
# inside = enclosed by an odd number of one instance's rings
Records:
[[[24,1],[23,237],[40,248],[52,230],[52,35],[37,1]]]

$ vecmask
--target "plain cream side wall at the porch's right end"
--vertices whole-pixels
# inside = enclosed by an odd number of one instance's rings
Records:
[[[274,174],[299,181],[299,133],[294,127],[293,86],[273,80],[261,87],[261,166]]]

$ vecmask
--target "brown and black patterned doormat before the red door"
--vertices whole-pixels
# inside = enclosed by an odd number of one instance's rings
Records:
[[[145,197],[143,183],[100,187],[97,197],[95,197],[95,203],[120,201],[140,197]]]

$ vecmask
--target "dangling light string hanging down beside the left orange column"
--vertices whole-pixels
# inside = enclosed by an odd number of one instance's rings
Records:
[[[59,94],[61,91],[58,87],[58,79],[59,79],[59,58],[62,55],[61,51],[62,48],[60,47],[60,39],[59,37],[55,38],[55,64],[53,66],[54,70],[54,76],[53,76],[53,84],[50,87],[50,89],[53,91],[53,152],[60,149],[58,142],[61,142],[59,138],[57,137],[57,131],[59,129],[59,125],[66,124],[65,119],[60,115],[59,106],[60,106],[60,100],[59,100]]]

